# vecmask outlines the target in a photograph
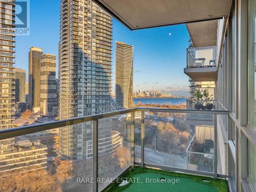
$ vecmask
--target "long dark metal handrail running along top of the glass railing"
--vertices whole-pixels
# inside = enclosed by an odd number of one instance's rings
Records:
[[[25,125],[15,127],[12,129],[6,129],[0,131],[0,140],[8,139],[12,137],[27,135],[31,133],[41,132],[56,129],[63,126],[74,125],[78,123],[84,123],[93,120],[99,120],[102,118],[113,117],[116,115],[123,115],[132,112],[166,112],[166,113],[194,113],[194,114],[211,114],[211,115],[228,115],[228,111],[203,111],[203,110],[178,110],[178,109],[160,109],[160,108],[131,108],[114,112],[107,112],[95,115],[88,115],[84,117],[77,117],[71,119],[57,120],[53,122]]]

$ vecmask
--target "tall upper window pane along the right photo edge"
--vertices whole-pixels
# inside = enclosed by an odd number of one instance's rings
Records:
[[[256,2],[249,0],[248,2],[248,124],[256,130],[256,75],[255,75],[255,18],[256,18]]]

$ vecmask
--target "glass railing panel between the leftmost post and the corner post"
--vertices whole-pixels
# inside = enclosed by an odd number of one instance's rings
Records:
[[[100,119],[98,130],[98,189],[101,191],[131,165],[131,113]]]

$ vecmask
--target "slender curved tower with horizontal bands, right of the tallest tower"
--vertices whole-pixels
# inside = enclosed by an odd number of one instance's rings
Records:
[[[124,42],[116,41],[116,103],[122,108],[133,106],[133,49]]]

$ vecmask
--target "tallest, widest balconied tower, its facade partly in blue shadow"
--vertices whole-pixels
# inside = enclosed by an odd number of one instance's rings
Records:
[[[110,111],[111,48],[112,17],[108,13],[92,1],[61,1],[60,119]],[[109,119],[100,121],[102,153],[111,152],[110,127]],[[92,123],[60,129],[60,153],[70,160],[92,158]]]

